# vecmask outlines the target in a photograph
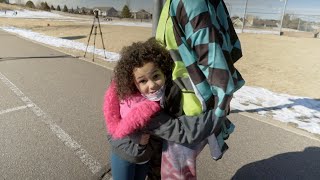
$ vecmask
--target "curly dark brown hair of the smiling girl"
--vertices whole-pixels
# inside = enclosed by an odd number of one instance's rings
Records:
[[[114,68],[114,79],[120,99],[125,99],[139,91],[134,84],[133,70],[149,62],[153,62],[166,76],[166,79],[171,80],[173,60],[168,50],[155,38],[122,48],[120,60]]]

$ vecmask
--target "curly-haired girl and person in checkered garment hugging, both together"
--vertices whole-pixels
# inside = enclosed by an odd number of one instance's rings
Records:
[[[220,159],[234,129],[242,54],[224,2],[167,0],[156,39],[122,49],[105,94],[114,180],[196,179],[202,149]]]

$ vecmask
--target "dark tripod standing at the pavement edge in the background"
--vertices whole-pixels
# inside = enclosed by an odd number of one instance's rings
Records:
[[[92,61],[94,61],[94,53],[95,53],[95,47],[96,47],[96,36],[97,36],[97,28],[99,26],[99,31],[100,31],[100,35],[101,35],[101,41],[102,41],[102,46],[103,46],[103,52],[104,52],[104,58],[107,59],[106,57],[106,48],[104,47],[104,42],[103,42],[103,37],[102,37],[102,31],[101,31],[101,26],[100,26],[100,21],[99,21],[99,16],[98,16],[98,11],[94,11],[94,18],[93,18],[93,23],[91,26],[91,30],[90,30],[90,34],[89,34],[89,38],[88,38],[88,43],[87,43],[87,47],[86,47],[86,51],[84,53],[83,57],[86,57],[87,54],[87,50],[88,50],[88,46],[89,46],[89,42],[90,42],[90,38],[92,35],[92,31],[94,28],[94,39],[93,39],[93,53],[92,53]],[[96,20],[98,21],[98,25],[95,24]]]

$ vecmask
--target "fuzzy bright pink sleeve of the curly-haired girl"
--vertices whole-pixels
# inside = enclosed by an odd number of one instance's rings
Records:
[[[104,118],[107,130],[113,138],[123,138],[144,127],[150,121],[151,116],[159,110],[160,105],[157,102],[146,100],[132,108],[125,118],[121,119],[120,102],[114,81],[111,82],[104,97]]]

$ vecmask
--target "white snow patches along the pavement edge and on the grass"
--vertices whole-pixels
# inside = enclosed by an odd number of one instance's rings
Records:
[[[34,12],[34,11],[18,11],[17,15],[13,15],[12,11],[7,11],[6,14],[0,11],[0,18],[50,18],[61,21],[76,21],[73,17],[62,16],[50,12]],[[112,23],[113,22],[106,22]],[[118,22],[117,25],[123,26],[143,26],[150,27],[148,23],[130,23]],[[50,37],[44,34],[39,34],[31,30],[3,27],[0,29],[24,37],[32,39],[43,44],[77,49],[85,51],[86,44],[79,43],[73,40]],[[258,32],[256,32],[258,33]],[[89,46],[88,53],[93,53],[93,47]],[[104,57],[102,49],[96,49],[95,54]],[[106,61],[117,61],[119,54],[106,50]],[[261,87],[244,86],[234,94],[231,102],[231,108],[237,111],[257,113],[260,116],[272,118],[282,122],[291,122],[297,124],[297,127],[308,132],[320,135],[320,101],[309,97],[292,96],[289,94],[279,94]]]

